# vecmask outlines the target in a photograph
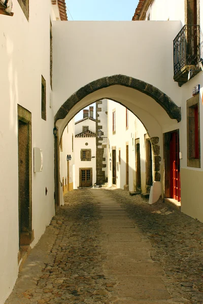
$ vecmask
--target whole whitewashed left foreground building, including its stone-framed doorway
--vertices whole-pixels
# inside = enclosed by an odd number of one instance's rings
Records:
[[[60,6],[55,0],[0,1],[0,303],[60,204],[54,186],[52,32],[62,20],[63,0]]]

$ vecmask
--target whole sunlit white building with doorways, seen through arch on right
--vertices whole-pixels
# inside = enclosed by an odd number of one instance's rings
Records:
[[[109,186],[149,193],[153,181],[152,148],[141,121],[121,104],[108,100]]]

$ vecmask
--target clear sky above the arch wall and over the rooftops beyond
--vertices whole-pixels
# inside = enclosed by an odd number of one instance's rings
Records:
[[[69,21],[131,21],[139,0],[65,0],[65,2]],[[93,105],[95,110],[95,104]],[[86,108],[88,109],[89,106]],[[82,118],[83,111],[80,111],[75,121]]]

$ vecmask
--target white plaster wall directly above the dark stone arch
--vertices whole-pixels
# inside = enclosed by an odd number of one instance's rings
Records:
[[[173,40],[181,27],[180,21],[54,22],[54,113],[84,85],[114,74],[150,83],[179,105]]]

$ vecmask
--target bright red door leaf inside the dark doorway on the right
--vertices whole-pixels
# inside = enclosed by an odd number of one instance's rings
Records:
[[[170,141],[170,166],[171,166],[171,198],[181,201],[179,134],[171,133]]]

